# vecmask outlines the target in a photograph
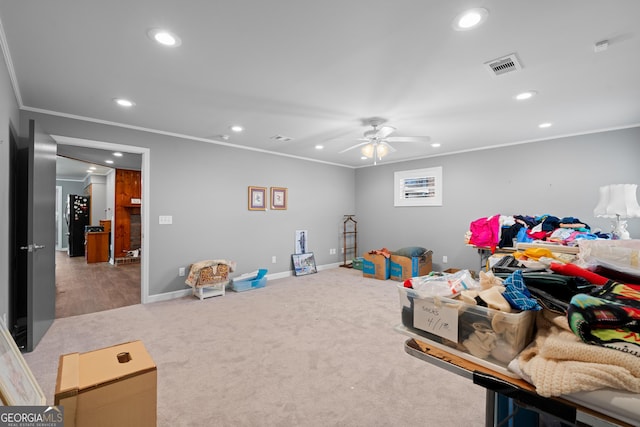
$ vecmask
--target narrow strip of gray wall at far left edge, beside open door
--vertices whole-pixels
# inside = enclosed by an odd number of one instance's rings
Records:
[[[18,103],[0,55],[0,316],[9,310],[9,127],[17,137],[18,120]]]

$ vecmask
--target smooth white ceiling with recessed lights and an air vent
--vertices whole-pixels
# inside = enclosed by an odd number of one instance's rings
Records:
[[[476,6],[484,25],[454,31]],[[369,117],[441,144],[397,143],[386,162],[638,126],[639,18],[637,0],[0,0],[24,109],[353,167],[372,162],[339,152]],[[522,70],[492,76],[511,53]]]

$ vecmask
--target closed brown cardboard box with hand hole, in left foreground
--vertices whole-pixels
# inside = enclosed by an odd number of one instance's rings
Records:
[[[62,355],[55,404],[65,427],[155,426],[156,364],[142,341]]]

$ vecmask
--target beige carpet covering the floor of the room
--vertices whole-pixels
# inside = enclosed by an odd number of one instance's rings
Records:
[[[56,319],[25,359],[53,404],[61,354],[140,339],[159,426],[484,425],[483,388],[405,353],[396,286],[335,268]]]

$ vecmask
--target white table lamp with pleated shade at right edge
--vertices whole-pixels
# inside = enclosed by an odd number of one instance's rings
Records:
[[[640,217],[640,205],[636,199],[636,184],[611,184],[600,187],[600,200],[593,210],[599,218],[615,218],[612,234],[614,239],[630,239],[627,221],[621,218]]]

